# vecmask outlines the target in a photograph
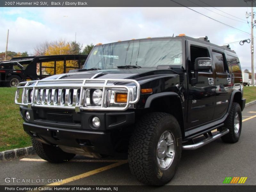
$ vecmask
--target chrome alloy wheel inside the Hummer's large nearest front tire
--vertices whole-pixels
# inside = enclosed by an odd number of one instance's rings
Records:
[[[175,140],[170,131],[165,131],[161,135],[157,144],[157,164],[160,169],[168,169],[175,155]]]

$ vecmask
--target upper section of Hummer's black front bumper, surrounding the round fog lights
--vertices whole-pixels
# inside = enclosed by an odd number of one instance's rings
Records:
[[[30,120],[26,120],[25,113],[29,112]],[[47,113],[63,115],[70,114],[70,121],[65,122],[63,118],[48,118]],[[82,111],[76,113],[74,110],[58,110],[48,108],[33,108],[29,109],[27,107],[20,106],[20,115],[23,120],[31,124],[39,124],[50,127],[60,127],[67,129],[81,129],[88,131],[108,131],[118,128],[124,128],[128,125],[134,124],[135,122],[135,112],[134,111],[120,111],[120,112],[97,112],[97,111]],[[92,118],[99,117],[100,126],[95,128],[92,125]]]

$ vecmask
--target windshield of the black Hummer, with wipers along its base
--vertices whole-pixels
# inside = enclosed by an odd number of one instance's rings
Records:
[[[181,39],[146,39],[96,46],[84,68],[113,69],[118,66],[156,67],[182,65]]]

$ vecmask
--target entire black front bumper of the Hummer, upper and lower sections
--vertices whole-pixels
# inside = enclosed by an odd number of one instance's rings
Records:
[[[30,114],[29,121],[25,118],[27,111]],[[60,110],[53,112],[60,113]],[[72,122],[48,120],[45,109],[29,109],[21,106],[20,115],[25,121],[24,131],[40,142],[59,146],[65,152],[100,157],[100,154],[113,155],[116,141],[112,133],[116,129],[128,128],[128,125],[135,122],[134,111],[76,113],[70,110],[62,112],[72,114]],[[100,118],[100,127],[97,129],[91,122],[94,116]]]

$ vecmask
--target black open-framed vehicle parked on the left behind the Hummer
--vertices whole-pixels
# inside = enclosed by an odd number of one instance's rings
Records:
[[[27,80],[39,80],[46,76],[58,74],[59,61],[63,70],[59,73],[66,73],[70,69],[81,68],[87,55],[50,55],[33,57],[14,57],[11,60],[0,61],[0,84],[6,87],[16,87],[20,82]],[[76,61],[67,65],[67,62]],[[52,69],[52,70],[49,70]],[[51,71],[51,72],[49,72]]]

